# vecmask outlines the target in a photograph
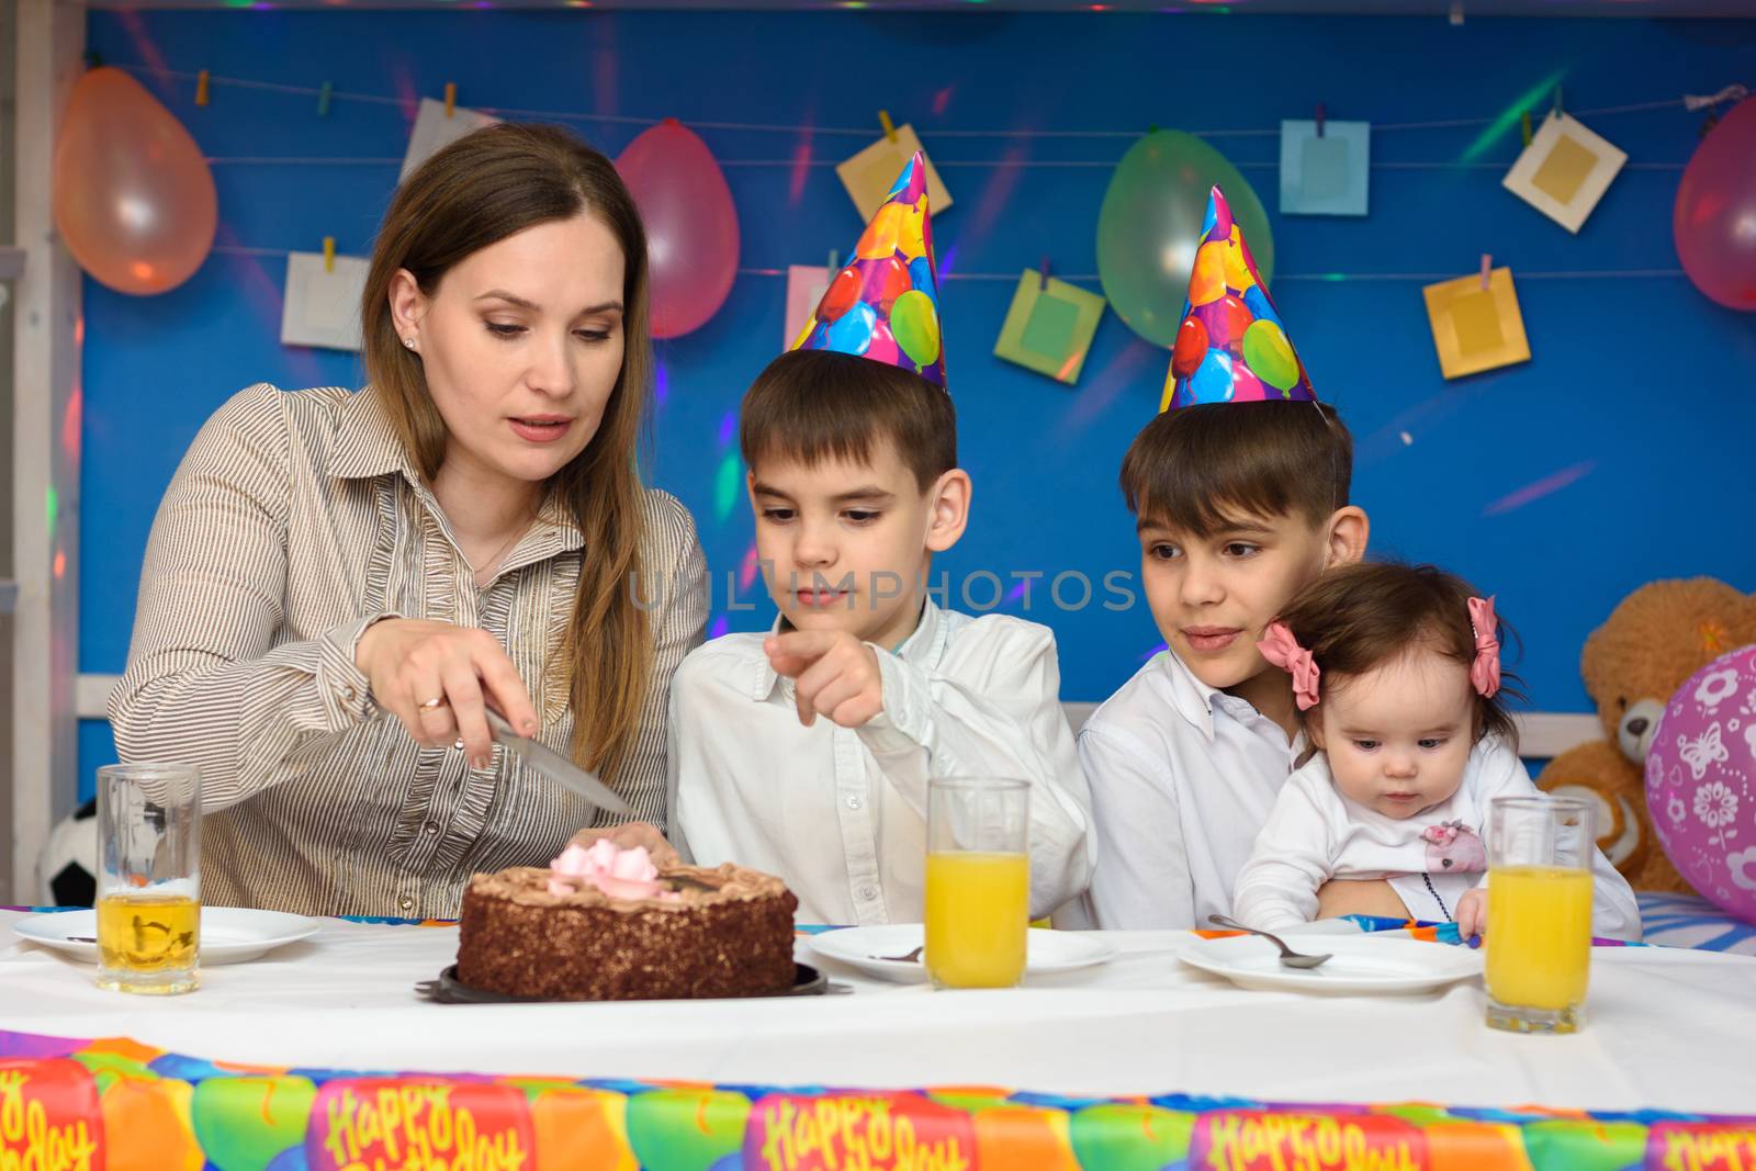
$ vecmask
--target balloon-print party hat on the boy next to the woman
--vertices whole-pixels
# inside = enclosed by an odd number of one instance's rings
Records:
[[[794,349],[834,349],[945,388],[939,283],[932,272],[927,162],[917,151],[834,276]]]

